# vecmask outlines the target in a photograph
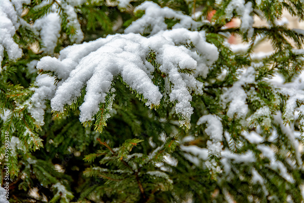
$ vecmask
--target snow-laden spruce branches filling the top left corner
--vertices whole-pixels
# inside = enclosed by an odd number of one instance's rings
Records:
[[[25,19],[34,23],[27,23],[21,16],[25,5],[30,5],[30,0],[0,2],[0,62],[7,54],[8,60],[16,60],[22,57],[22,43],[16,37],[19,30],[19,38],[25,38],[30,46],[38,43],[39,48],[46,54],[54,54],[60,37],[61,26],[65,28],[71,42],[80,43],[83,40],[80,23],[77,19],[75,7],[84,4],[81,1],[49,1],[44,0],[34,8],[28,10]],[[22,26],[22,29],[19,27]],[[38,38],[40,36],[41,40]],[[26,42],[25,42],[26,43]]]

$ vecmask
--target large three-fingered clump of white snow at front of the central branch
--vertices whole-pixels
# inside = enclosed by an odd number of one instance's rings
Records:
[[[158,105],[162,95],[144,72],[146,68],[142,61],[143,54],[139,43],[120,37],[110,40],[81,60],[70,77],[58,87],[55,97],[51,100],[52,108],[62,111],[63,105],[71,104],[71,100],[80,95],[81,88],[86,84],[85,102],[80,107],[80,121],[91,120],[99,110],[99,103],[105,102],[111,81],[118,74],[149,100],[148,105]]]

